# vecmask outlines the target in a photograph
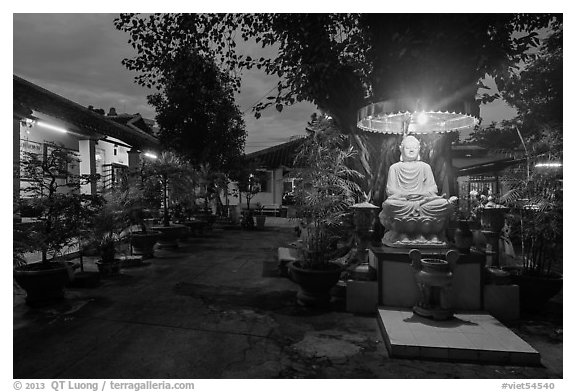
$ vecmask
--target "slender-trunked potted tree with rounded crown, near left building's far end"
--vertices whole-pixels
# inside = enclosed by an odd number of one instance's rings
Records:
[[[171,151],[163,152],[160,157],[145,165],[144,173],[148,177],[145,184],[154,189],[157,189],[159,185],[161,192],[162,225],[152,227],[152,230],[161,233],[158,239],[158,246],[161,248],[177,248],[178,239],[187,230],[184,225],[170,222],[170,204],[178,193],[183,191],[181,189],[182,178],[188,170],[190,170],[189,165]]]

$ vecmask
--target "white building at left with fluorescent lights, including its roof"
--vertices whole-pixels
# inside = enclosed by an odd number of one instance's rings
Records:
[[[68,149],[77,157],[69,164],[69,172],[99,175],[98,182],[83,185],[80,190],[96,194],[117,181],[123,170],[138,167],[144,154],[157,154],[160,150],[158,139],[139,116],[130,116],[126,121],[105,116],[16,75],[13,86],[15,219],[19,217],[20,198],[26,198],[21,189],[27,179],[21,176],[20,169],[25,152],[46,157],[56,145]]]

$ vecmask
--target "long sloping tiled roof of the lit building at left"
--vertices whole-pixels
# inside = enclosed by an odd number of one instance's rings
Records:
[[[159,147],[158,139],[142,130],[114,122],[19,76],[14,75],[13,80],[15,111],[32,109],[73,125],[83,135],[110,136],[138,149]]]

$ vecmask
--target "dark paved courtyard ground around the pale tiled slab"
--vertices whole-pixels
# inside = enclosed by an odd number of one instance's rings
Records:
[[[15,287],[14,378],[563,377],[561,298],[508,324],[542,366],[389,358],[375,314],[296,304],[297,285],[274,270],[293,225],[216,229],[48,308],[29,308]]]

